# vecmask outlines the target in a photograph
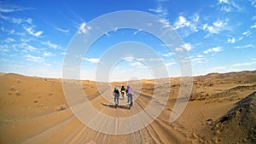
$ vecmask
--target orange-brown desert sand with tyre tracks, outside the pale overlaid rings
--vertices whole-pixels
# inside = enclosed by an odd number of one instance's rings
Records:
[[[61,79],[1,73],[0,143],[256,143],[256,71],[194,77],[188,105],[171,123],[179,79],[168,79],[171,91],[166,107],[153,123],[131,134],[108,135],[90,129],[73,115]],[[92,106],[116,118],[143,111],[154,92],[154,80],[134,82],[142,89],[129,110],[126,100],[119,100],[122,107],[113,108],[113,101],[99,95],[96,82],[81,83]],[[127,83],[112,83],[121,84]],[[164,84],[161,89],[168,90]]]

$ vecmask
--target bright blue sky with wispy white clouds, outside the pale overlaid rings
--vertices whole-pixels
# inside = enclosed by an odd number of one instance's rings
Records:
[[[119,10],[154,14],[172,26],[188,50],[193,75],[255,70],[256,0],[10,0],[0,1],[0,72],[61,78],[67,46],[75,33],[90,20]],[[125,41],[147,44],[165,62],[169,77],[180,76],[173,53],[156,37],[118,30],[100,37],[86,55],[78,55],[83,60],[81,78],[95,79],[101,55]],[[143,60],[144,55],[139,60],[127,55],[113,67],[110,79],[153,78]]]

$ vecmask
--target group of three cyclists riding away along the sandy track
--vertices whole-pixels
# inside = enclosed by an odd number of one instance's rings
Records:
[[[132,100],[132,89],[129,85],[127,85],[127,89],[125,89],[125,86],[122,85],[121,87],[121,95],[123,97],[123,100],[125,100],[125,95],[127,95],[127,103],[129,104],[129,109],[132,107],[132,104],[133,104],[133,100]],[[117,108],[119,106],[119,96],[120,96],[120,93],[119,93],[119,89],[118,87],[114,87],[113,89],[113,101],[115,103],[115,108]]]

